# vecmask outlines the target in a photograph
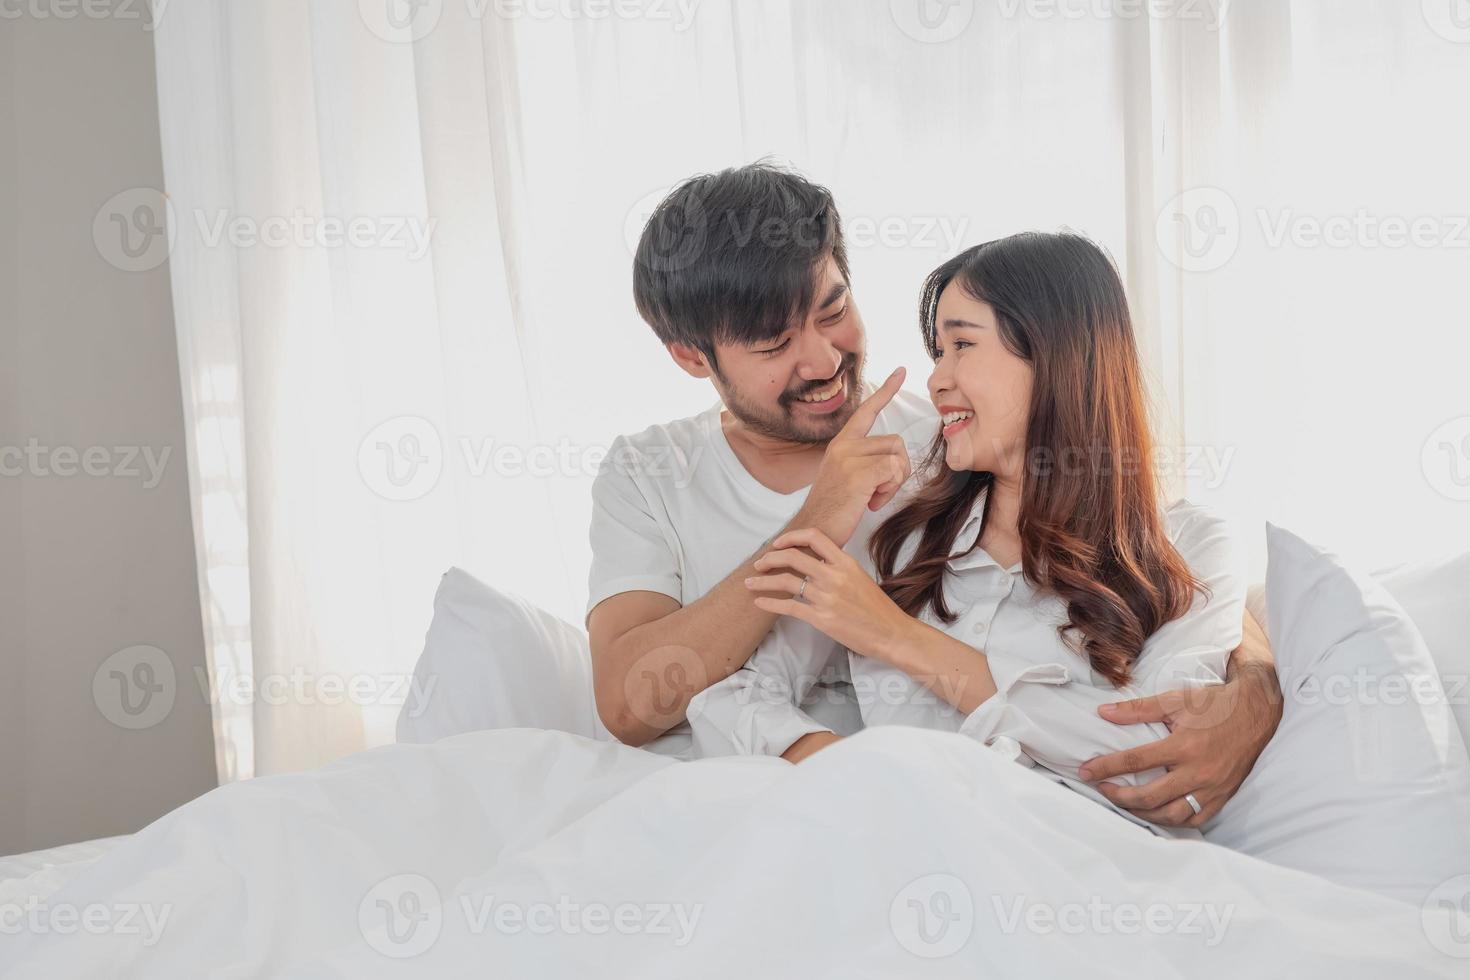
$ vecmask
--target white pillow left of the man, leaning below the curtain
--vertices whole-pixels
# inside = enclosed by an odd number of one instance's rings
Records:
[[[520,727],[612,738],[592,701],[587,633],[460,569],[440,580],[413,676],[428,696],[404,704],[400,742]]]

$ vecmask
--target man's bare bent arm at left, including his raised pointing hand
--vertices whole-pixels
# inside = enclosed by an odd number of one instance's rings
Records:
[[[895,370],[828,444],[822,469],[786,527],[822,527],[845,544],[864,510],[878,510],[908,479],[908,450],[897,435],[872,436],[878,413],[898,394]],[[689,699],[738,670],[770,632],[776,614],[756,607],[745,558],[703,597],[681,605],[657,592],[623,592],[587,620],[592,691],[603,724],[620,742],[644,745],[684,720]]]

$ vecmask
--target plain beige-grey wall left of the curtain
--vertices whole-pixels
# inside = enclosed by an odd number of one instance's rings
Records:
[[[0,854],[129,833],[215,785],[168,266],[122,272],[93,241],[104,201],[162,187],[157,129],[143,22],[0,19],[0,451],[100,447],[113,472],[0,458],[22,470],[0,476]],[[128,447],[169,450],[157,486],[115,473]],[[140,730],[93,691],[134,645],[178,683]]]

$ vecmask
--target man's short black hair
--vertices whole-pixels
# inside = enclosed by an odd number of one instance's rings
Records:
[[[663,344],[714,364],[716,344],[761,344],[807,316],[828,254],[848,281],[831,191],[767,162],[731,167],[689,178],[654,209],[634,300]]]

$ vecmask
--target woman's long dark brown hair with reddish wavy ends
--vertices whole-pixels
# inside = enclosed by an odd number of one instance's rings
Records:
[[[939,295],[956,284],[995,310],[1005,347],[1033,369],[1019,532],[1030,583],[1067,604],[1063,639],[1113,686],[1144,641],[1183,616],[1204,586],[1164,527],[1152,435],[1127,298],[1107,254],[1080,235],[1023,234],[976,245],[925,282],[920,325],[938,353]],[[944,623],[944,574],[991,473],[951,472],[935,436],[913,500],[873,535],[883,591],[910,616]],[[986,513],[982,517],[983,535]],[[904,542],[917,548],[895,572]],[[975,547],[979,547],[976,536]]]

